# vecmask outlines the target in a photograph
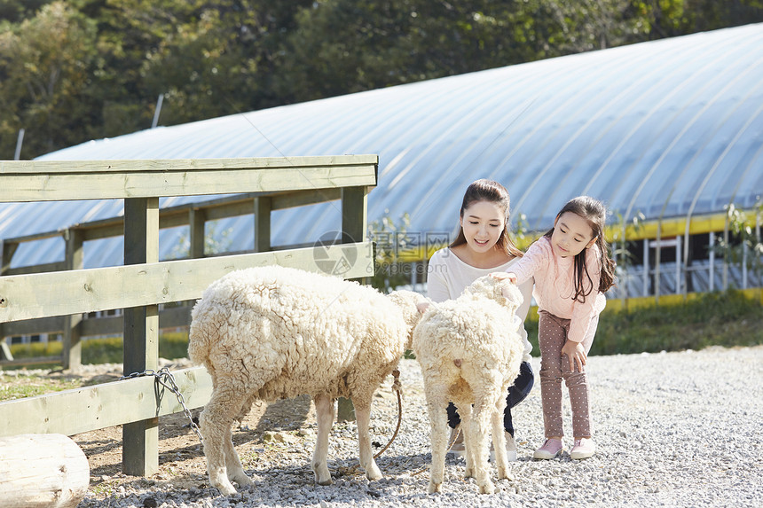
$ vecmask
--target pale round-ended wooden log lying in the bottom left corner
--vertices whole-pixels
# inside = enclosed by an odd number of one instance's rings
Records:
[[[88,459],[67,436],[0,438],[0,508],[74,508],[89,483]]]

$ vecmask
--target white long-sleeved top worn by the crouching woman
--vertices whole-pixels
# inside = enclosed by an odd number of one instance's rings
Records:
[[[427,269],[427,296],[431,301],[440,302],[455,300],[463,293],[464,288],[471,285],[477,278],[489,275],[494,271],[507,271],[512,264],[521,258],[515,258],[493,268],[476,268],[459,259],[451,252],[450,247],[445,247],[432,254]],[[519,285],[519,291],[523,296],[523,303],[516,309],[516,319],[519,319],[519,332],[524,340],[523,362],[530,362],[532,345],[527,340],[527,332],[524,330],[524,318],[530,310],[532,298],[533,279],[529,279]]]

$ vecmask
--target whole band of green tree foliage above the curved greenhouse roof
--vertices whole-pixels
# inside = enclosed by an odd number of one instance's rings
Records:
[[[763,21],[763,0],[0,0],[0,159]]]

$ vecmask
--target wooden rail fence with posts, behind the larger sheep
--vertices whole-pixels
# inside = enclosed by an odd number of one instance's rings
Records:
[[[124,265],[82,270],[82,242],[67,242],[64,270],[0,277],[0,324],[65,317],[65,348],[79,348],[84,313],[124,309],[124,372],[158,367],[158,306],[199,298],[216,278],[250,266],[279,264],[334,275],[369,277],[374,248],[366,241],[367,192],[376,185],[376,155],[205,160],[0,161],[0,202],[66,199],[124,199]],[[338,191],[338,192],[337,192]],[[266,252],[201,259],[158,261],[159,198],[247,192],[256,199],[256,246]],[[305,195],[311,198],[305,199]],[[342,235],[347,243],[326,248],[270,251],[274,200],[341,199]],[[321,197],[323,199],[321,199]],[[203,223],[201,225],[203,228]],[[203,231],[203,229],[201,230]],[[202,244],[203,246],[203,244]],[[203,255],[203,252],[201,253]],[[10,256],[4,251],[4,266]],[[348,265],[347,259],[355,262]],[[334,264],[332,264],[334,262]],[[39,267],[38,267],[39,268]],[[60,268],[60,267],[54,267]],[[189,409],[211,393],[202,367],[178,372],[178,387]],[[0,402],[0,436],[27,433],[77,434],[122,427],[122,469],[146,476],[158,470],[161,414],[182,410],[160,396],[153,378],[124,379],[18,401]]]

